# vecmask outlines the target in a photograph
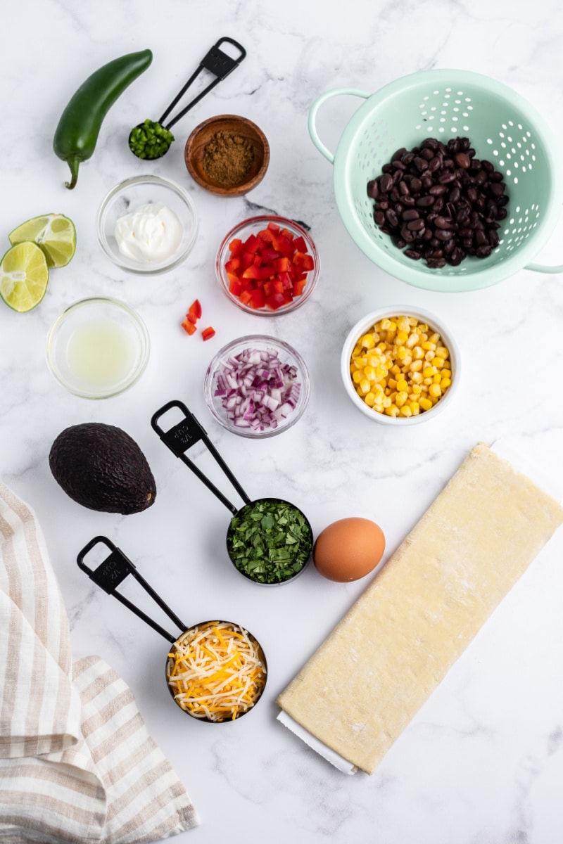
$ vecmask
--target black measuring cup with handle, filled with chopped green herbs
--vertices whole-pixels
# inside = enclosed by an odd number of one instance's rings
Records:
[[[179,410],[182,418],[176,425],[163,430],[159,424],[160,418],[172,408]],[[313,547],[311,524],[299,507],[281,498],[260,498],[252,501],[209,440],[203,426],[184,403],[174,399],[166,403],[153,414],[150,424],[165,446],[168,446],[182,463],[186,463],[232,513],[226,542],[230,561],[237,571],[254,583],[268,586],[294,580],[311,559]],[[187,457],[187,450],[200,441],[219,463],[219,467],[245,502],[244,506],[235,506]]]

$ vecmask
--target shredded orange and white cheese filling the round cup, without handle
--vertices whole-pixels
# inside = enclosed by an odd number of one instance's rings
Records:
[[[168,657],[168,683],[176,703],[209,721],[234,721],[254,706],[266,682],[257,641],[227,622],[187,630]]]

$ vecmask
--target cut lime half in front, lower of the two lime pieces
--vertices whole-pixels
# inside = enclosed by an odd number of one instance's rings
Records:
[[[39,305],[48,281],[45,253],[31,241],[12,246],[0,263],[0,296],[19,313]]]

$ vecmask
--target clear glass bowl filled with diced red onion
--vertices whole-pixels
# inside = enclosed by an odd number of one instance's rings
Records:
[[[256,438],[295,425],[309,390],[309,373],[300,354],[263,334],[227,344],[209,364],[204,382],[214,418],[235,434]]]

